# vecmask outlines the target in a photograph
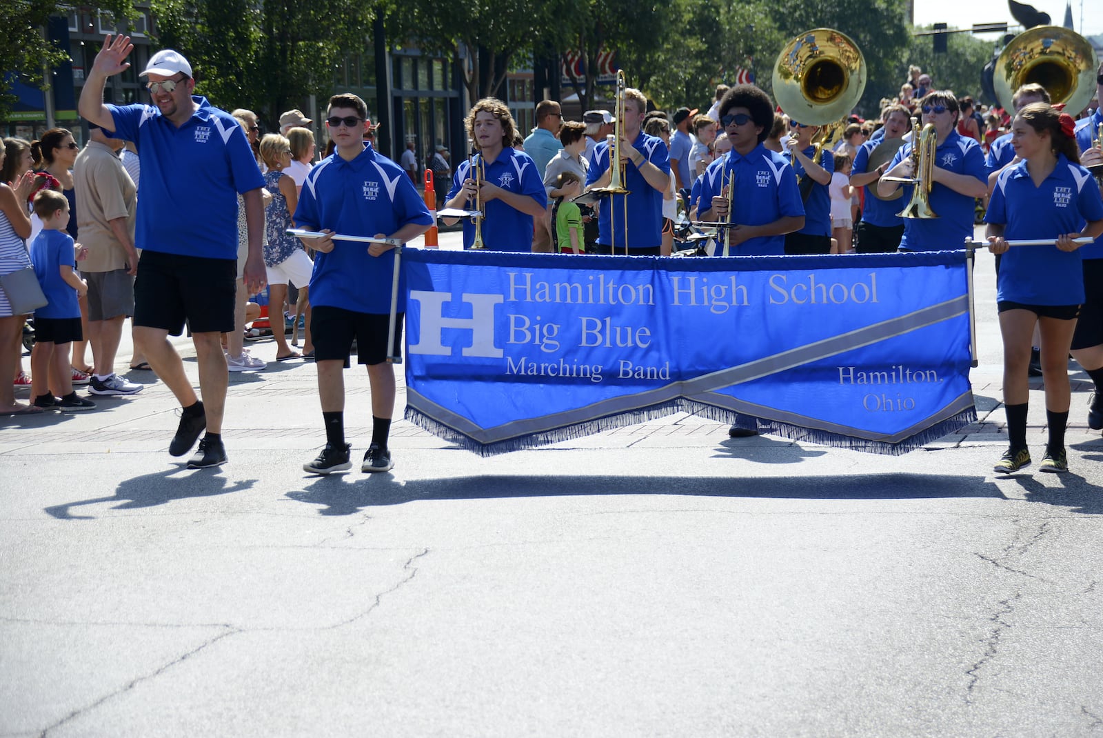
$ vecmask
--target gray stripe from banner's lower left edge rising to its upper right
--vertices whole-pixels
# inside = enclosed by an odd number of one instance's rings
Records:
[[[672,382],[668,385],[646,389],[631,395],[610,397],[598,403],[591,403],[579,408],[561,410],[550,415],[542,415],[538,418],[525,418],[522,420],[511,420],[492,428],[482,428],[468,418],[438,405],[425,397],[417,391],[407,386],[407,402],[419,413],[453,428],[469,438],[480,443],[493,443],[511,438],[518,438],[533,434],[564,428],[566,426],[589,423],[599,418],[615,416],[633,410],[640,410],[654,405],[661,405],[678,398],[689,402],[704,402],[708,405],[724,405],[715,402],[696,400],[697,396],[711,393],[720,387],[728,387],[743,382],[758,379],[770,374],[784,372],[785,370],[802,364],[807,364],[820,359],[826,359],[835,354],[845,353],[854,349],[870,345],[878,341],[884,341],[897,335],[903,335],[910,331],[927,328],[934,323],[956,318],[968,312],[968,297],[962,296],[915,310],[906,315],[874,323],[865,328],[855,329],[840,335],[808,343],[803,346],[790,349],[772,356],[740,364],[727,370],[704,374],[693,379]],[[415,402],[416,400],[416,402]],[[777,410],[774,410],[777,413]],[[780,420],[780,418],[779,418]],[[802,425],[802,424],[794,424]],[[854,434],[847,434],[854,435]],[[878,439],[879,440],[879,439]]]

